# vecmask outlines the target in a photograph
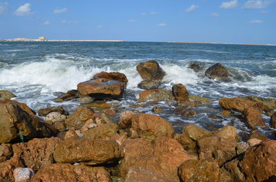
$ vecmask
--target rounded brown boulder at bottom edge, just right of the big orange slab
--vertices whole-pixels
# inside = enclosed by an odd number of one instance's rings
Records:
[[[181,164],[178,170],[182,181],[218,182],[221,170],[215,161],[188,160]]]

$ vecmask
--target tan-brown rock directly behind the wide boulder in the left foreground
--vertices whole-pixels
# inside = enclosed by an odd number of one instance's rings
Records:
[[[95,128],[90,128],[83,132],[83,137],[88,139],[103,139],[108,140],[113,135],[117,134],[119,130],[119,125],[115,123],[101,124]]]

